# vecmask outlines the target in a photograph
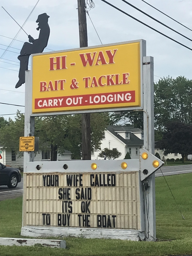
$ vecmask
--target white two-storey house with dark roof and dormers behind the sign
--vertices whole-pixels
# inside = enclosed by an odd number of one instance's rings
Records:
[[[127,151],[129,151],[131,158],[139,158],[139,148],[143,146],[143,139],[143,131],[140,128],[108,126],[101,141],[101,151],[104,148],[118,150],[122,153],[118,159],[124,159]],[[92,152],[91,159],[103,159],[98,156],[99,152]]]

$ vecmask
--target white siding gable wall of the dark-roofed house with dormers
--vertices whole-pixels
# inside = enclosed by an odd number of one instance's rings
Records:
[[[116,148],[122,153],[122,155],[117,159],[125,158],[125,144],[117,139],[117,137],[111,134],[108,130],[105,131],[105,138],[101,140],[101,151],[104,150],[104,148]],[[100,151],[94,151],[94,155],[91,156],[91,160],[104,159],[103,157],[98,156],[99,153]]]

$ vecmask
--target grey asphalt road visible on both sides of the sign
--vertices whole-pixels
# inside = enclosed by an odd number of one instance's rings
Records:
[[[181,165],[181,166],[163,166],[161,170],[157,170],[155,172],[155,177],[159,176],[168,176],[168,175],[176,175],[176,174],[185,174],[192,173],[192,164],[189,165]],[[0,186],[0,201],[5,199],[14,199],[23,194],[23,178],[21,182],[18,183],[16,189],[10,189],[7,186]]]

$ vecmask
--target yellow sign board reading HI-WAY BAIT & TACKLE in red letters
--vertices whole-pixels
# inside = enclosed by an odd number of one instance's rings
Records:
[[[32,55],[32,112],[140,107],[142,43]]]

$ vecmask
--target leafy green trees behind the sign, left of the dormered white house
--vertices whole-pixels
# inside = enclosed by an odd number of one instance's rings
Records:
[[[109,124],[107,113],[91,114],[92,151],[100,149],[101,139]],[[0,129],[0,142],[8,151],[19,151],[19,137],[24,136],[24,115],[17,112],[17,117]],[[72,152],[74,159],[81,159],[82,122],[81,115],[58,115],[35,118],[35,136],[39,137],[40,149],[51,149],[51,160],[57,160],[57,152]]]

